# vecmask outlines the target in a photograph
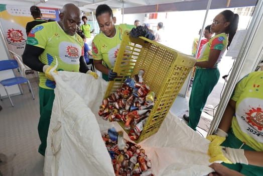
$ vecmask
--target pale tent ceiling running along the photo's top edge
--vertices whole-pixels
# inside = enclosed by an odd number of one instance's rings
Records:
[[[46,1],[46,2],[45,2]],[[124,14],[190,11],[206,9],[208,0],[0,0],[0,4],[62,9],[67,3],[75,4],[83,12],[95,11],[98,5],[107,4],[112,9],[124,8]],[[213,0],[211,9],[254,6],[256,0]]]

